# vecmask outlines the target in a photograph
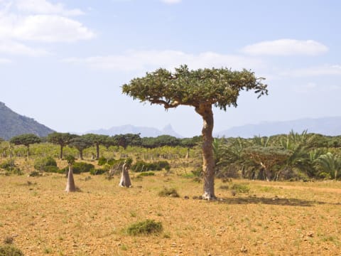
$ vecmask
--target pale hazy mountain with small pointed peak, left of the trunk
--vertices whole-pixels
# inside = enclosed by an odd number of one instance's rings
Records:
[[[94,133],[94,134],[104,134],[104,135],[116,135],[116,134],[140,134],[141,137],[158,137],[160,135],[171,135],[173,137],[180,138],[182,137],[180,134],[177,134],[174,132],[173,128],[171,127],[171,124],[168,124],[166,127],[164,127],[162,130],[153,128],[153,127],[136,127],[131,124],[122,125],[119,127],[112,127],[109,129],[97,129],[92,130],[87,133]]]

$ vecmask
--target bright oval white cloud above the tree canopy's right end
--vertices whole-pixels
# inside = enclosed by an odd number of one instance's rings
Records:
[[[280,39],[264,41],[242,48],[250,55],[318,55],[328,51],[328,47],[313,40],[299,41]]]

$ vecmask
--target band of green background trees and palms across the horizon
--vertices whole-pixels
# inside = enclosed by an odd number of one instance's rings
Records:
[[[0,140],[1,159],[11,156],[52,156],[63,159],[67,154],[83,159],[110,159],[131,157],[144,161],[158,159],[195,158],[193,174],[200,176],[200,137],[178,139],[169,135],[144,137],[139,134],[76,135],[54,132],[48,137],[23,134],[9,142]],[[30,146],[38,144],[37,146]],[[59,152],[56,151],[58,146]],[[16,146],[22,145],[22,146]],[[267,181],[338,179],[341,176],[341,136],[290,132],[271,137],[255,136],[251,139],[215,138],[213,143],[215,174],[219,178],[249,178]],[[189,150],[193,149],[193,154]],[[193,164],[195,162],[195,164]],[[181,167],[183,162],[173,164]]]

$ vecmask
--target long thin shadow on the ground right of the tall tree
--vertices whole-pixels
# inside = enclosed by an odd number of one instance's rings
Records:
[[[302,199],[296,198],[264,198],[264,197],[248,197],[248,198],[220,198],[218,200],[219,203],[226,203],[226,204],[267,204],[267,205],[274,205],[274,206],[303,206],[303,207],[310,207],[314,205],[323,205],[323,204],[332,204],[338,205],[340,203],[327,203],[327,202],[320,202],[320,201],[307,201]]]

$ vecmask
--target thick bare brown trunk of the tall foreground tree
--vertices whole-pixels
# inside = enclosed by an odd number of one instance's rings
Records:
[[[203,199],[215,199],[215,158],[213,156],[213,112],[211,104],[200,104],[195,111],[202,116],[202,173],[204,177]]]

